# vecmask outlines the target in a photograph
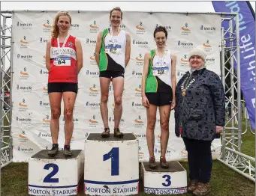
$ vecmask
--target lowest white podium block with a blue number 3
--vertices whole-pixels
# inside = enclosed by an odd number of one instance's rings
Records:
[[[149,168],[149,162],[141,164],[144,192],[155,195],[175,195],[187,192],[187,172],[179,162],[168,162],[169,168]]]

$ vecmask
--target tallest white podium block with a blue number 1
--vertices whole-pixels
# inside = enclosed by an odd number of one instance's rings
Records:
[[[84,186],[88,195],[139,192],[139,141],[134,134],[101,138],[91,133],[85,144]]]

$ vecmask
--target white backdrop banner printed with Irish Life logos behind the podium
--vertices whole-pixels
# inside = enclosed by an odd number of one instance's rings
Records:
[[[109,12],[71,11],[71,34],[81,40],[83,69],[79,75],[79,92],[74,108],[74,134],[71,149],[84,149],[84,141],[91,132],[101,133],[100,86],[94,52],[98,32],[109,27]],[[47,95],[48,71],[45,66],[47,40],[56,11],[15,11],[13,17],[13,113],[12,134],[14,162],[26,162],[43,149],[50,149],[50,102]],[[168,31],[167,48],[177,55],[177,82],[188,70],[188,52],[202,45],[207,53],[207,69],[220,75],[221,16],[218,14],[143,13],[124,12],[121,28],[131,34],[131,60],[125,70],[125,91],[122,132],[134,132],[139,138],[140,161],[149,159],[146,144],[146,109],[140,91],[143,58],[149,49],[155,49],[153,31],[164,25]],[[113,86],[108,102],[110,129],[113,131]],[[63,102],[60,118],[59,147],[63,147]],[[160,118],[155,125],[155,156],[160,157]],[[220,139],[212,142],[212,156],[218,158]],[[185,161],[187,152],[182,138],[174,134],[173,111],[170,115],[170,139],[167,159]]]

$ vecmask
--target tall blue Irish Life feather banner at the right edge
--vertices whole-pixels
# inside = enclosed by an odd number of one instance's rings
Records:
[[[215,12],[238,13],[240,81],[252,129],[255,129],[255,13],[248,1],[212,1]],[[235,28],[236,21],[233,21]],[[227,22],[222,22],[224,29]],[[234,61],[236,69],[236,61]]]

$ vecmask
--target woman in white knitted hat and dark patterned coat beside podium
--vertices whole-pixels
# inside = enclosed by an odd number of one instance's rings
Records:
[[[225,123],[224,88],[218,75],[206,69],[201,46],[188,55],[189,70],[176,86],[175,132],[188,151],[188,192],[206,195],[212,172],[211,143]]]

